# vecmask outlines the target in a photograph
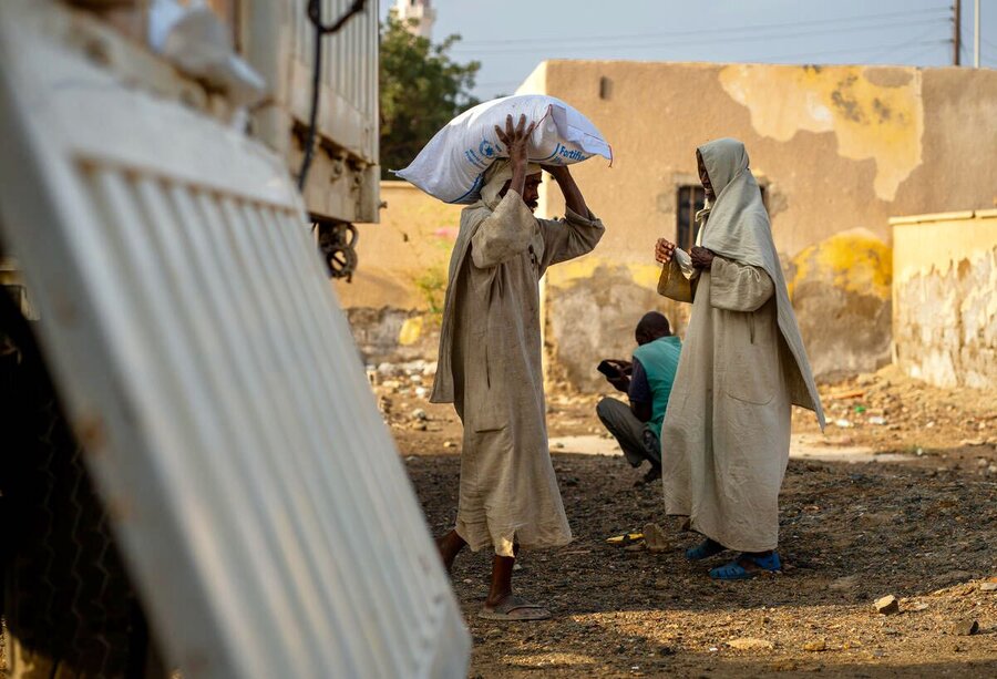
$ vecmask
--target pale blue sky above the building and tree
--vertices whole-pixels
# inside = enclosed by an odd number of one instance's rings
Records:
[[[482,63],[474,93],[511,94],[545,59],[952,63],[953,0],[433,0],[433,40]],[[963,0],[963,64],[974,1]],[[394,0],[380,0],[382,16]],[[980,0],[980,64],[997,68],[997,0]]]

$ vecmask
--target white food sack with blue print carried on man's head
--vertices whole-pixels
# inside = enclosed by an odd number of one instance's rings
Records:
[[[469,205],[479,199],[484,172],[506,158],[495,125],[505,130],[505,117],[527,125],[537,121],[530,140],[530,162],[571,165],[594,155],[613,160],[609,144],[592,122],[554,96],[520,94],[479,104],[463,112],[433,135],[415,160],[394,174],[446,203]]]

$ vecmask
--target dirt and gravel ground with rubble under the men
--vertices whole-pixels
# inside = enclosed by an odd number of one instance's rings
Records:
[[[425,402],[431,372],[388,369],[374,381],[439,534],[455,516],[460,425],[449,407]],[[997,677],[997,394],[887,369],[826,385],[822,398],[831,422],[822,444],[906,459],[791,461],[785,568],[751,582],[710,580],[722,557],[682,557],[697,536],[662,515],[658,484],[635,487],[643,470],[555,451],[575,542],[522,555],[514,580],[553,619],[479,619],[490,555],[462,555],[453,578],[474,639],[471,676]],[[596,398],[548,400],[552,436],[600,431]],[[812,420],[796,413],[794,430],[818,432]],[[605,542],[648,522],[665,527],[669,549]],[[898,613],[875,610],[886,595]]]

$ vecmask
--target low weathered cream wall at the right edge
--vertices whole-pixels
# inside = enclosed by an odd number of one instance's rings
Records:
[[[939,387],[997,388],[997,209],[890,224],[895,362]]]

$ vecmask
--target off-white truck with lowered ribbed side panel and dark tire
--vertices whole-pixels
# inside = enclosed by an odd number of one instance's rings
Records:
[[[322,263],[377,217],[377,4],[209,4],[0,2],[0,670],[464,676]]]

